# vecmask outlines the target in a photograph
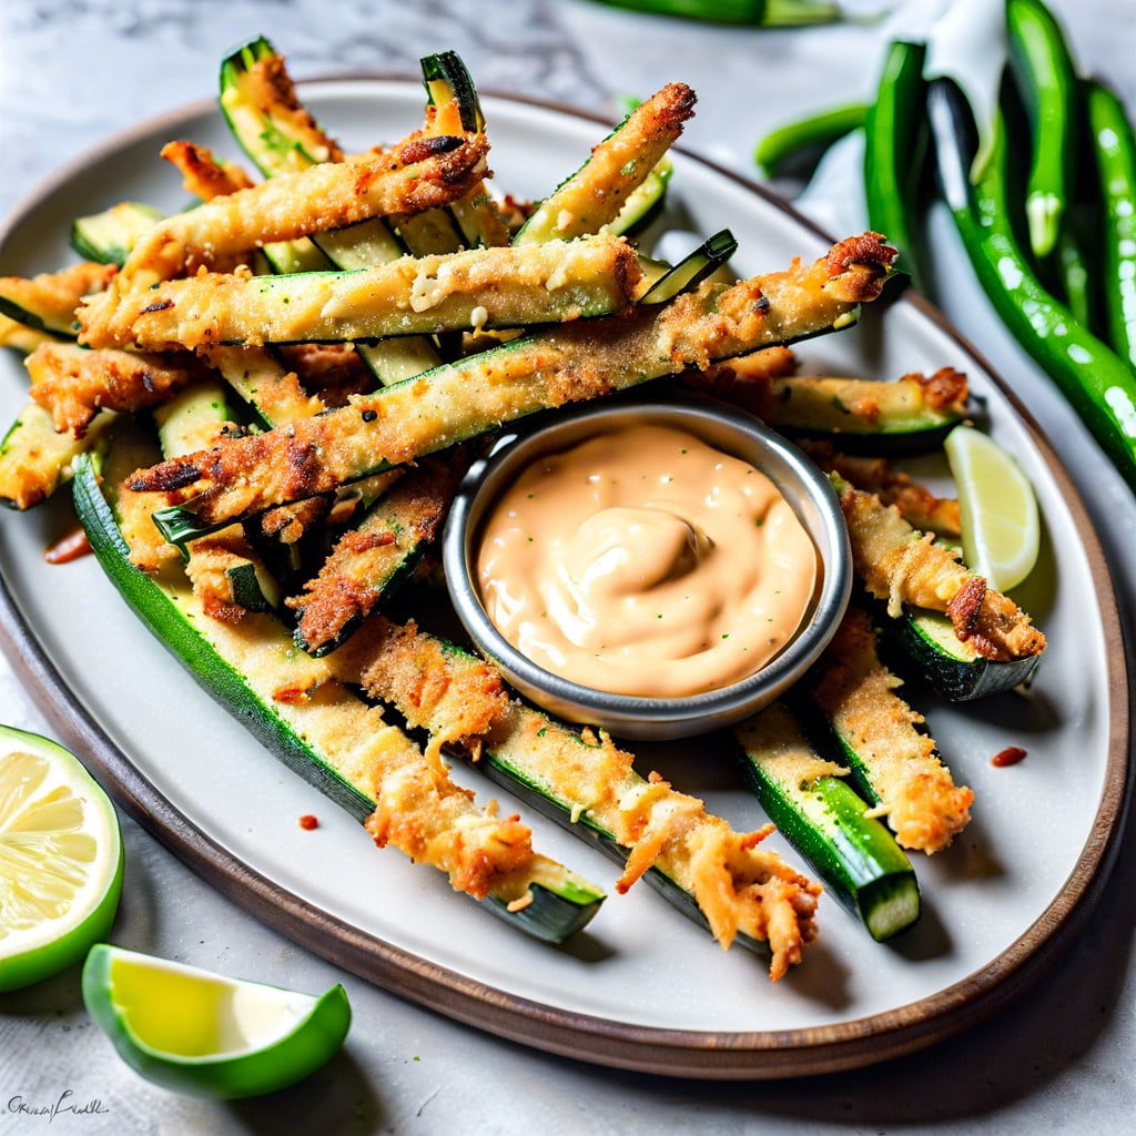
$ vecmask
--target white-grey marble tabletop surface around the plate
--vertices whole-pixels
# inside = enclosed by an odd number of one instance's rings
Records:
[[[1136,107],[1136,5],[1066,0],[1085,65]],[[878,25],[762,33],[628,16],[587,0],[0,0],[0,214],[61,161],[142,116],[208,95],[217,60],[267,32],[298,75],[411,73],[427,50],[458,49],[486,89],[610,110],[670,78],[702,95],[686,144],[751,173],[770,125],[866,94]],[[821,81],[818,82],[818,76]],[[847,202],[842,206],[849,208]],[[1077,419],[962,281],[935,229],[941,300],[1018,384],[1102,528],[1130,616],[1136,600],[1131,494]],[[10,524],[10,519],[0,523]],[[1130,627],[1128,630],[1130,632]],[[0,719],[45,729],[0,660]],[[1129,826],[1130,828],[1131,826]],[[886,1066],[801,1081],[701,1085],[549,1058],[456,1025],[344,975],[218,896],[132,821],[130,883],[115,927],[127,946],[298,988],[342,980],[354,1009],[344,1051],[275,1097],[212,1104],[176,1097],[123,1066],[82,1008],[77,971],[0,997],[0,1131],[134,1133],[1034,1133],[1126,1130],[1136,1067],[1136,863],[1120,863],[1081,942],[1027,999],[987,1025]],[[1055,837],[1056,838],[1056,837]],[[991,918],[996,918],[991,912]],[[100,1102],[45,1117],[19,1102]]]

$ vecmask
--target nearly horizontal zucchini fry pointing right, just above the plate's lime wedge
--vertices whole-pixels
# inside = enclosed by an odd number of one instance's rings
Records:
[[[934,449],[967,414],[967,377],[951,367],[875,382],[770,374],[763,360],[750,371],[740,359],[715,368],[700,385],[776,429],[869,452]]]

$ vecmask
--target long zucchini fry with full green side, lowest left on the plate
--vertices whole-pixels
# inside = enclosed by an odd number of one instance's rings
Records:
[[[268,616],[218,623],[176,566],[160,579],[133,569],[91,462],[75,490],[95,556],[127,604],[214,699],[362,820],[376,843],[446,872],[457,891],[540,938],[562,942],[592,918],[599,888],[534,852],[518,818],[479,810],[436,759],[296,652],[282,624]]]

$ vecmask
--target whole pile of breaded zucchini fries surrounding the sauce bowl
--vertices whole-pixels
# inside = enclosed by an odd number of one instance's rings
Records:
[[[87,262],[0,281],[0,339],[30,352],[32,377],[0,444],[0,499],[30,508],[74,471],[80,520],[125,600],[378,843],[549,941],[595,914],[602,891],[535,852],[519,818],[476,809],[445,747],[624,862],[617,889],[645,877],[722,946],[768,950],[779,977],[816,933],[819,888],[759,846],[767,829],[734,832],[605,736],[521,703],[492,665],[394,621],[392,594],[429,565],[457,481],[504,421],[683,373],[787,432],[919,449],[964,417],[964,379],[793,374],[783,344],[846,326],[879,293],[893,251],[874,235],[733,283],[704,279],[734,251],[728,233],[674,267],[635,251],[625,237],[659,208],[692,112],[682,84],[510,216],[484,181],[460,59],[427,57],[423,76],[425,126],[349,157],[257,40],[224,61],[220,106],[264,182],[170,143],[202,204],[80,218]],[[824,442],[816,456],[842,479],[858,573],[914,666],[955,699],[1026,680],[1044,640],[919,532],[957,536],[952,502],[886,462]],[[1021,637],[999,638],[1008,621]],[[876,938],[919,913],[878,818],[933,852],[970,804],[896,684],[858,610],[797,692],[842,763],[790,704],[736,730],[767,812]]]

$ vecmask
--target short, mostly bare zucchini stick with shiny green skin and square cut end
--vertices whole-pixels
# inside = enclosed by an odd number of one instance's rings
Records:
[[[877,942],[919,918],[911,861],[843,780],[847,772],[812,747],[780,702],[734,727],[742,770],[777,830]]]

